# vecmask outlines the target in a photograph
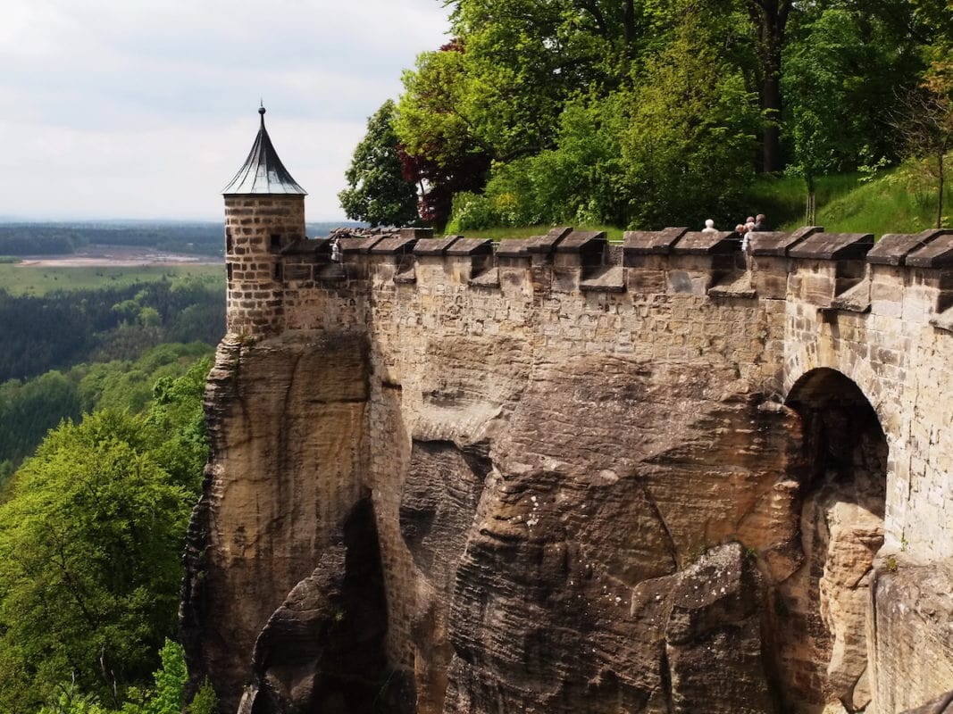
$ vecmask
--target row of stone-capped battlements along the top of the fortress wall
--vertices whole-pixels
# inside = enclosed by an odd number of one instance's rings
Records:
[[[333,240],[339,252],[333,255]],[[241,248],[238,248],[241,249]],[[928,294],[930,324],[953,330],[953,231],[888,234],[826,233],[805,227],[759,232],[741,251],[737,233],[628,231],[621,243],[604,232],[553,228],[529,239],[434,238],[423,228],[337,230],[333,238],[301,239],[265,250],[268,260],[246,272],[230,268],[230,331],[248,337],[307,328],[296,306],[328,289],[376,286],[466,287],[534,295],[633,292],[710,299],[796,299],[822,310],[869,311],[897,300],[899,287]],[[260,275],[259,275],[260,273]],[[269,285],[259,285],[264,280]],[[431,285],[433,284],[433,285]],[[924,295],[925,297],[925,295]],[[233,327],[236,326],[236,327]]]

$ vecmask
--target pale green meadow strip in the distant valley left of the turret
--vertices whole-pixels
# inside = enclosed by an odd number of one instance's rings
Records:
[[[14,295],[45,295],[53,290],[119,288],[191,275],[224,283],[225,269],[208,265],[44,268],[0,263],[0,288]]]

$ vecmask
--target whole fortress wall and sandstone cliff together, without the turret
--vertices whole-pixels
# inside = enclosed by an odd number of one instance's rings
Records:
[[[953,239],[920,268],[865,263],[872,236],[765,241],[255,244],[276,287],[231,281],[252,332],[207,392],[193,684],[246,714],[950,689]]]

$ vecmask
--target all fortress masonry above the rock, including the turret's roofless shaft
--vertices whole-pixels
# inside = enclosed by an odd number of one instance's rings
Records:
[[[679,366],[686,383],[720,370],[731,375],[731,399],[779,410],[805,374],[837,370],[884,431],[888,547],[902,543],[905,557],[924,562],[953,551],[953,459],[942,442],[953,400],[940,388],[953,361],[953,231],[875,246],[870,234],[805,227],[752,234],[746,250],[736,233],[687,228],[628,231],[621,244],[565,227],[497,245],[421,228],[342,229],[315,241],[304,238],[299,195],[229,196],[226,226],[231,335],[260,338],[261,349],[345,335],[366,360],[355,367],[367,392],[348,422],[353,441],[327,449],[354,482],[329,486],[344,495],[320,507],[334,520],[361,489],[371,493],[388,655],[408,670],[418,664],[423,595],[399,510],[416,442],[474,446],[507,426],[507,405],[518,401],[481,391],[497,388],[482,384],[486,372],[459,376],[468,349],[489,355],[470,369],[518,371],[520,386],[506,386],[513,392],[554,365],[598,355],[600,365]],[[445,411],[452,418],[436,418]],[[414,419],[404,424],[401,414]],[[383,446],[367,448],[365,430]],[[794,606],[792,621],[807,607]],[[798,685],[820,691],[817,663],[799,656]]]

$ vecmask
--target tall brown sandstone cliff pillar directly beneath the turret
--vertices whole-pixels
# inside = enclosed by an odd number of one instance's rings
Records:
[[[218,349],[182,620],[191,669],[213,672],[232,710],[259,631],[358,499],[365,364],[365,341],[345,334]]]

